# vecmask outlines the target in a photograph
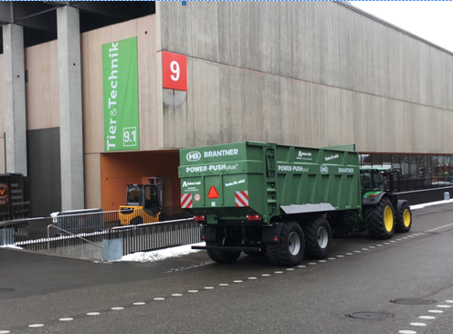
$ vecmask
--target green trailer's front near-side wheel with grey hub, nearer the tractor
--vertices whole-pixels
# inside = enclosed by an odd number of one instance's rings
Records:
[[[319,217],[304,225],[303,234],[305,257],[318,259],[328,256],[332,245],[332,229],[325,218]]]

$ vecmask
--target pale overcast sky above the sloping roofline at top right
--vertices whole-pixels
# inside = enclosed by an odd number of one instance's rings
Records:
[[[350,4],[453,52],[452,1],[351,1]]]

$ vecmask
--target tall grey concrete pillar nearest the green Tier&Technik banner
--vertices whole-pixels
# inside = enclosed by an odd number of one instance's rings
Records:
[[[57,9],[61,211],[83,209],[83,128],[79,9]]]

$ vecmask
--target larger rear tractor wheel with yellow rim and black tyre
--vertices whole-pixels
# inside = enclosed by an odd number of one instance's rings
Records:
[[[365,211],[365,223],[368,234],[374,239],[388,239],[394,235],[395,216],[392,202],[383,197],[378,204]]]

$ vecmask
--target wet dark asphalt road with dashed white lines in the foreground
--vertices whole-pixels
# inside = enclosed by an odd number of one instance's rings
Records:
[[[329,259],[293,270],[266,257],[219,265],[205,252],[102,264],[1,248],[0,334],[451,334],[453,204],[413,215],[408,234],[334,239]],[[433,304],[391,302],[398,298]]]

